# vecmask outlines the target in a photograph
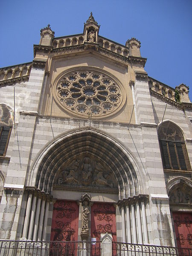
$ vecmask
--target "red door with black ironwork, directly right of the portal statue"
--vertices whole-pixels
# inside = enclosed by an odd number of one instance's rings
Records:
[[[96,241],[92,243],[92,255],[100,255],[100,241],[101,233],[111,234],[113,241],[116,241],[116,218],[115,207],[113,204],[94,203],[91,207],[91,240]]]

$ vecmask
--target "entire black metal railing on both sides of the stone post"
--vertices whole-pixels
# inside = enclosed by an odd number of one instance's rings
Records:
[[[102,250],[100,241],[0,240],[0,256],[102,256]],[[112,242],[108,255],[191,256],[192,249]]]

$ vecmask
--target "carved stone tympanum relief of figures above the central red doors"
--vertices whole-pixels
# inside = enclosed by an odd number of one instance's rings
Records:
[[[91,186],[116,188],[116,180],[111,171],[102,163],[90,157],[76,158],[59,169],[55,186]]]

